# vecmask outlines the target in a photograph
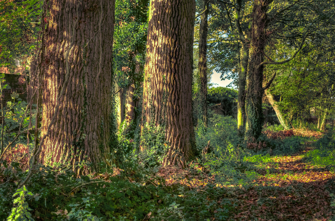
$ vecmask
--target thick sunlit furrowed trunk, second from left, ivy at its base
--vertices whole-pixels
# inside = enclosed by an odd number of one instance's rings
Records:
[[[194,0],[150,3],[142,130],[146,125],[164,128],[170,146],[164,165],[185,166],[196,154],[192,121],[194,16]]]

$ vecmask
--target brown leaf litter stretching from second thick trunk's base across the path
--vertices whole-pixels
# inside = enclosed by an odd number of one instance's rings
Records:
[[[249,173],[249,183],[238,185],[218,185],[214,175],[198,164],[186,170],[163,168],[159,175],[165,185],[186,185],[204,194],[208,183],[214,189],[225,189],[221,196],[207,197],[208,203],[217,201],[216,207],[209,207],[213,214],[210,221],[221,220],[215,216],[227,208],[226,203],[220,206],[221,201],[231,204],[229,218],[223,220],[335,220],[335,171],[304,160],[306,153],[313,150],[313,142],[306,142],[290,156],[268,156],[252,163],[255,170]]]

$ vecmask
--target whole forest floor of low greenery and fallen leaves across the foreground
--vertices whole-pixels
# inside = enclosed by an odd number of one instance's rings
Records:
[[[258,152],[226,148],[229,156],[206,154],[185,169],[134,166],[76,177],[41,165],[26,201],[44,221],[335,221],[334,135],[293,132],[265,131],[269,145]],[[20,163],[0,171],[0,220],[26,176],[25,148],[12,152]]]

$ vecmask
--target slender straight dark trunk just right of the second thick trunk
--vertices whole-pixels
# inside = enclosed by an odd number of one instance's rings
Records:
[[[207,17],[208,0],[202,0],[202,11],[199,33],[199,99],[198,99],[198,129],[202,135],[207,131]]]

